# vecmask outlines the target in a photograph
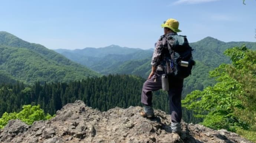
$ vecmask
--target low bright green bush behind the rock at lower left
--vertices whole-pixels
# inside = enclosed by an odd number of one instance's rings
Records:
[[[22,108],[22,111],[19,113],[13,112],[9,114],[5,112],[0,118],[0,129],[4,128],[4,126],[7,125],[8,121],[11,119],[20,119],[28,125],[31,125],[35,121],[53,118],[53,116],[49,114],[45,116],[43,109],[40,109],[40,105],[23,105]]]

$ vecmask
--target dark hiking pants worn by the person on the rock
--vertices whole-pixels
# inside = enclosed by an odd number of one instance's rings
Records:
[[[150,80],[145,81],[141,92],[141,103],[152,106],[152,91],[162,88],[161,75],[154,74]],[[181,122],[181,92],[183,88],[183,79],[169,78],[169,107],[171,121],[174,123]]]

